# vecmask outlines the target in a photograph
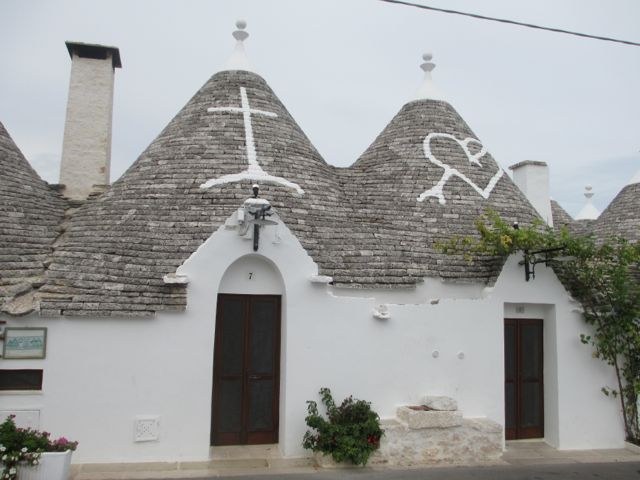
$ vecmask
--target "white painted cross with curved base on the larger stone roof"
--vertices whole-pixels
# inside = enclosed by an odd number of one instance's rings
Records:
[[[220,178],[212,178],[200,185],[200,188],[209,188],[214,185],[222,185],[224,183],[239,182],[242,180],[251,180],[252,182],[265,182],[275,183],[283,185],[288,188],[292,188],[299,194],[304,194],[304,190],[296,183],[282,177],[275,177],[265,172],[258,163],[258,157],[256,155],[256,146],[253,139],[253,127],[251,126],[251,115],[264,115],[266,117],[275,118],[276,115],[273,112],[267,112],[264,110],[252,109],[249,105],[249,99],[247,97],[247,91],[244,87],[240,87],[240,107],[211,107],[207,109],[207,112],[228,112],[228,113],[241,113],[244,120],[244,139],[247,150],[247,161],[249,166],[246,170],[240,173],[233,173],[230,175],[224,175]]]

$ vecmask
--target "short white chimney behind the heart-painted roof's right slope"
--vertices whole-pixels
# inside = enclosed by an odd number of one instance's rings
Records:
[[[525,160],[509,167],[513,181],[547,225],[553,227],[549,195],[549,167],[545,162]]]

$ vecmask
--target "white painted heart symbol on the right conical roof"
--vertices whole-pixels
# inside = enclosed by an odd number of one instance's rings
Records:
[[[455,168],[450,167],[446,163],[442,163],[431,153],[431,139],[438,138],[438,137],[454,140],[458,145],[460,145],[464,153],[467,155],[467,158],[469,159],[469,163],[473,163],[475,165],[478,165],[479,167],[482,167],[482,164],[480,163],[480,159],[487,154],[487,149],[482,145],[482,142],[480,142],[480,140],[475,138],[467,137],[464,140],[460,141],[455,136],[449,133],[430,133],[429,135],[427,135],[423,143],[424,154],[431,163],[444,169],[444,172],[442,173],[442,177],[440,178],[440,181],[435,186],[431,187],[429,190],[426,190],[425,192],[423,192],[418,197],[418,201],[422,202],[427,197],[437,197],[438,201],[440,202],[440,205],[444,205],[445,203],[447,203],[447,200],[444,198],[443,188],[447,183],[447,181],[449,181],[449,178],[451,178],[452,176],[456,176],[462,179],[463,181],[465,181],[476,192],[478,192],[482,196],[482,198],[489,198],[489,195],[491,195],[491,191],[493,190],[493,187],[496,186],[496,183],[498,183],[498,180],[500,180],[500,177],[502,177],[504,170],[498,167],[498,171],[493,177],[491,177],[491,180],[489,180],[489,183],[487,184],[487,186],[485,188],[480,188],[475,183],[473,183],[473,181],[471,181],[464,173],[460,173]],[[475,154],[471,153],[471,150],[469,150],[470,143],[475,143],[480,145],[480,151]]]

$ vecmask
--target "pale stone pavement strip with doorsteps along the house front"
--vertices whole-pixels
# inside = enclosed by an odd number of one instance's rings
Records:
[[[313,458],[285,459],[277,446],[214,447],[216,460],[209,462],[166,462],[74,465],[71,480],[164,480],[230,476],[295,475],[322,472]],[[556,450],[544,442],[508,442],[502,458],[483,466],[531,466],[560,464],[604,464],[640,462],[640,448],[615,450]],[[388,468],[388,467],[387,467]],[[419,469],[442,466],[420,466]],[[385,467],[367,467],[371,473]],[[414,467],[413,470],[418,469]]]

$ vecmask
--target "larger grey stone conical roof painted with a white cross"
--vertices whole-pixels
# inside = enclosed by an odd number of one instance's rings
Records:
[[[253,153],[243,103],[252,110]],[[233,181],[250,169],[250,156],[262,173]],[[309,253],[329,263],[322,240],[347,216],[334,170],[260,76],[217,73],[108,192],[73,216],[42,289],[43,312],[183,309],[184,287],[165,285],[163,276],[223,225],[256,181]],[[232,181],[202,188],[225,179]]]

